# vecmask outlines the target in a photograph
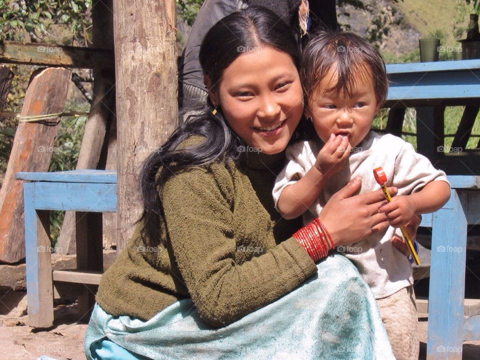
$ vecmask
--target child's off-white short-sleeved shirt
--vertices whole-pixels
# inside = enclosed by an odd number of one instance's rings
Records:
[[[297,142],[287,147],[287,163],[273,187],[275,206],[283,188],[299,180],[314,165],[322,145],[317,140]],[[391,134],[379,135],[370,131],[353,149],[343,167],[330,177],[317,201],[303,213],[303,222],[306,224],[316,218],[326,201],[355,176],[361,177],[360,193],[380,189],[373,176],[373,169],[379,166],[385,171],[387,186],[398,187],[398,195],[411,194],[433,180],[448,182],[445,173],[435,169],[408,142]],[[413,284],[407,257],[391,243],[394,233],[401,237],[400,229],[389,226],[385,231],[351,245],[337,247],[337,251],[344,253],[358,268],[375,298],[389,296]]]

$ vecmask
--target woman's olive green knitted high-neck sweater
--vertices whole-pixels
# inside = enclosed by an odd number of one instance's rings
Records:
[[[290,237],[301,223],[282,219],[273,206],[283,160],[284,153],[247,152],[238,163],[168,178],[159,190],[157,235],[136,227],[101,278],[98,304],[112,315],[147,320],[191,297],[200,317],[220,327],[314,274],[313,260]]]

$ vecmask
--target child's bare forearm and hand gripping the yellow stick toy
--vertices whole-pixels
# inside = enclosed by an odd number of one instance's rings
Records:
[[[420,191],[410,195],[394,196],[391,202],[381,205],[393,227],[405,225],[412,216],[438,210],[450,198],[450,186],[442,180],[428,182]]]

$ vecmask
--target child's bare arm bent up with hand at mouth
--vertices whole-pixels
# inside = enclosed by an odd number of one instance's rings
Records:
[[[277,202],[278,212],[287,219],[305,212],[318,198],[325,182],[341,168],[350,149],[347,137],[331,134],[318,152],[315,165],[302,178],[281,191]]]

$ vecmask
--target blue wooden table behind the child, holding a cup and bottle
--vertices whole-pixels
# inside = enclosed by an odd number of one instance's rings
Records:
[[[416,109],[417,151],[447,174],[480,175],[480,146],[466,150],[480,107],[480,59],[390,64],[386,132],[399,135],[406,107]],[[450,149],[444,149],[446,106],[464,105]]]

